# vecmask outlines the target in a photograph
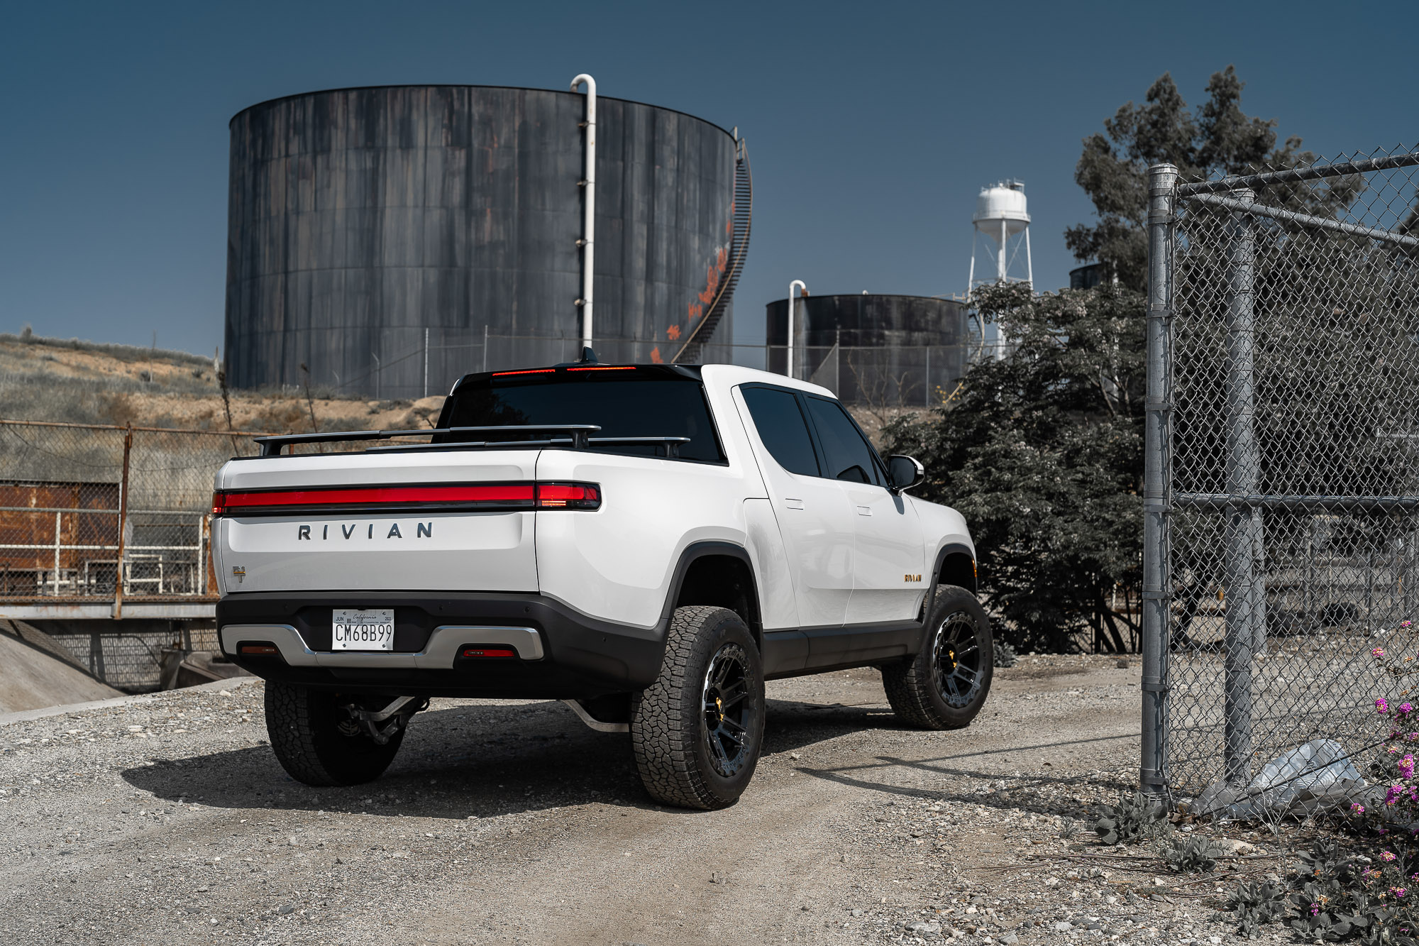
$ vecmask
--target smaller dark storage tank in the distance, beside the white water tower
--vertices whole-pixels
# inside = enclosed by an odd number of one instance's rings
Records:
[[[788,364],[788,300],[768,304],[768,369]],[[795,300],[793,375],[849,403],[921,408],[951,393],[978,354],[966,304],[934,295],[807,295]]]

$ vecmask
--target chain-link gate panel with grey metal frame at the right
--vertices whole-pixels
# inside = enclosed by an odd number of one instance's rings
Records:
[[[1371,649],[1413,653],[1419,604],[1416,168],[1149,172],[1145,791],[1382,736]]]

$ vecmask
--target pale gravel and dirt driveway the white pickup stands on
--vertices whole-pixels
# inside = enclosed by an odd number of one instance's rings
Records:
[[[900,726],[874,670],[775,682],[769,697],[758,774],[717,812],[653,804],[629,737],[561,703],[436,700],[383,778],[321,790],[272,757],[260,682],[0,717],[0,932],[17,945],[1235,939],[1206,899],[1220,876],[1158,876],[1069,830],[1134,784],[1137,663],[1022,658],[975,724],[948,733]]]

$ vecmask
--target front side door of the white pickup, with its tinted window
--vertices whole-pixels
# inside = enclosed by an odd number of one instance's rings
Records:
[[[887,472],[877,452],[836,401],[807,395],[809,416],[832,477],[853,511],[857,547],[849,626],[911,621],[931,575],[917,509],[887,490]]]

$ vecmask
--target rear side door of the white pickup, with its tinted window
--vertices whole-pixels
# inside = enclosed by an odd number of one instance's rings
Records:
[[[853,511],[820,474],[797,396],[782,388],[738,388],[744,426],[769,489],[793,571],[803,628],[837,628],[853,594]]]

